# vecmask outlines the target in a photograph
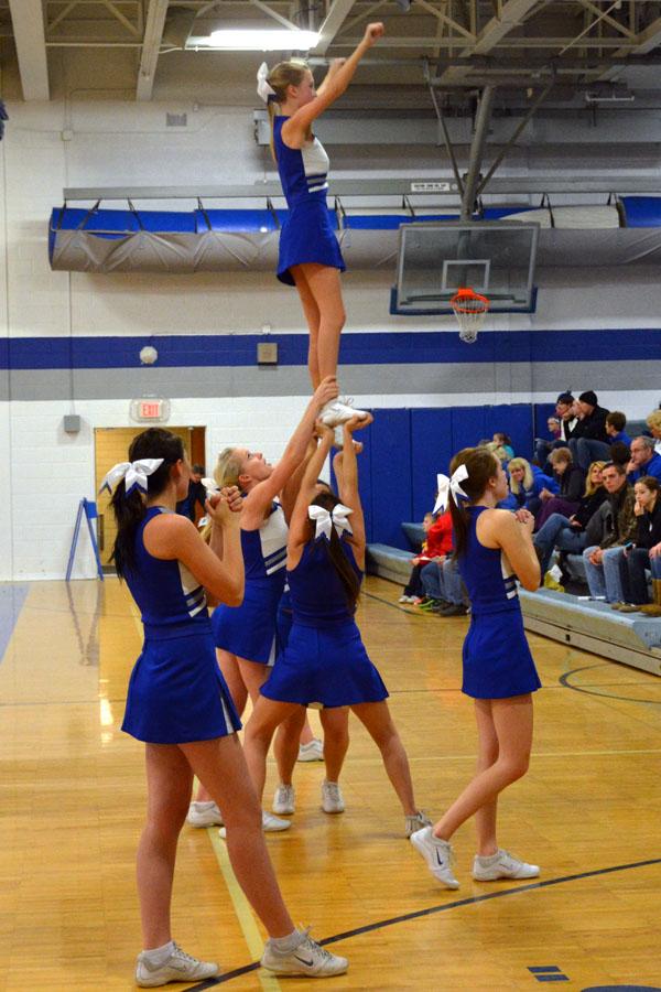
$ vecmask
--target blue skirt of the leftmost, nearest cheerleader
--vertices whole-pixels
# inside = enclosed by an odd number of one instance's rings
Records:
[[[241,729],[216,661],[210,629],[145,637],[136,661],[122,731],[148,744],[187,744]]]

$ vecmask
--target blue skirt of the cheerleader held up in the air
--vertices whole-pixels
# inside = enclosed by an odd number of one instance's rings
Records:
[[[277,273],[280,281],[286,285],[295,285],[290,269],[306,262],[329,266],[340,272],[346,269],[330,225],[325,197],[294,204],[280,231]]]

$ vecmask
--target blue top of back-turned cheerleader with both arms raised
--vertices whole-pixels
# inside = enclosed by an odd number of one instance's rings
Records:
[[[340,538],[340,548],[357,578],[362,572],[356,564],[351,546]],[[342,580],[328,554],[328,542],[321,537],[303,548],[295,569],[286,573],[290,586],[293,622],[303,627],[333,627],[351,623],[354,611],[349,608]]]

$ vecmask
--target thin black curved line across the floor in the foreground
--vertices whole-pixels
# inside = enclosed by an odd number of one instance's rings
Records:
[[[463,906],[473,906],[477,903],[487,903],[490,899],[501,899],[506,896],[519,895],[521,892],[532,892],[537,888],[550,888],[553,885],[564,885],[567,882],[577,882],[582,878],[594,878],[598,875],[610,875],[614,872],[626,872],[632,869],[649,867],[650,865],[661,864],[661,858],[650,858],[646,861],[633,861],[629,864],[616,864],[606,869],[593,869],[590,872],[578,872],[575,875],[561,875],[559,878],[545,878],[543,882],[530,882],[528,885],[517,885],[516,888],[500,889],[499,892],[488,892],[481,896],[469,896],[465,899],[455,899],[453,903],[443,903],[441,906],[430,906],[427,909],[415,909],[413,913],[405,913],[402,916],[392,916],[388,919],[381,919],[373,924],[366,924],[364,927],[356,927],[354,930],[345,930],[343,934],[335,934],[333,937],[325,937],[318,942],[322,947],[328,944],[335,944],[338,940],[348,940],[351,937],[359,937],[362,934],[369,934],[372,930],[381,930],[384,927],[393,927],[395,924],[409,923],[413,919],[422,919],[425,916],[433,916],[436,913],[446,913],[448,909],[459,909]],[[245,964],[242,968],[236,968],[228,971],[227,974],[220,974],[217,978],[207,979],[197,985],[192,985],[188,992],[203,992],[204,989],[214,989],[216,985],[223,985],[231,979],[240,978],[242,974],[249,974],[260,968],[259,961],[251,964]]]

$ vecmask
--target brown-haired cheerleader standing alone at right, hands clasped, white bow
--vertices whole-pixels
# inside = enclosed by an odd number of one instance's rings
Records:
[[[473,877],[533,878],[540,870],[498,847],[498,796],[525,775],[532,745],[532,696],[540,688],[523,633],[517,579],[524,589],[540,584],[532,543],[534,517],[496,509],[508,495],[507,476],[492,452],[465,448],[452,461],[452,479],[443,476],[449,500],[455,554],[472,603],[464,641],[462,690],[475,703],[478,732],[477,774],[433,827],[411,837],[432,874],[446,888],[458,888],[451,838],[475,816],[477,854]],[[449,490],[449,495],[447,495]]]

